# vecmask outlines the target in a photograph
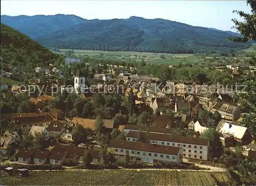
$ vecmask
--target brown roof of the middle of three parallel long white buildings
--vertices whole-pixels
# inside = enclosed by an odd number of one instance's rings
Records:
[[[126,135],[127,137],[137,138],[136,131],[129,131]],[[158,133],[146,133],[147,139],[159,140],[165,142],[175,142],[182,144],[193,144],[193,145],[204,145],[207,146],[209,143],[208,139],[199,137],[186,137],[181,135],[168,135],[168,134],[158,134]]]

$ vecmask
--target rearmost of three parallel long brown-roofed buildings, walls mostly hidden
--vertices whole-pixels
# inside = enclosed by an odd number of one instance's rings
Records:
[[[125,125],[123,131],[128,133],[130,131],[142,131],[142,132],[150,132],[150,133],[160,133],[160,134],[168,134],[172,135],[174,132],[173,128],[162,128],[162,127],[144,127],[138,125]]]

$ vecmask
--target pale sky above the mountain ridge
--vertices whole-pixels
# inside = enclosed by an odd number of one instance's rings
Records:
[[[40,1],[2,0],[1,15],[74,14],[85,19],[113,19],[139,16],[163,18],[192,26],[233,31],[233,10],[250,13],[246,1]]]

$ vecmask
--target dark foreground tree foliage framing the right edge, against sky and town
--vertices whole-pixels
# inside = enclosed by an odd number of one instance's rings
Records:
[[[247,6],[250,6],[252,14],[243,11],[233,11],[239,14],[244,21],[232,19],[234,28],[236,28],[242,37],[229,38],[234,42],[246,42],[249,40],[256,40],[256,4],[255,1],[247,1]],[[253,55],[246,61],[251,66],[256,66],[256,56]],[[238,92],[238,97],[245,103],[244,108],[249,114],[246,114],[242,120],[242,125],[249,128],[250,132],[256,133],[256,73],[255,72],[241,72],[240,84],[245,86],[244,91]]]

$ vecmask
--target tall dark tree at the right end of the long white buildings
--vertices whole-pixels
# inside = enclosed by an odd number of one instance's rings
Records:
[[[202,137],[210,141],[209,158],[219,158],[223,154],[223,148],[217,131],[214,128],[209,128],[203,132]]]

